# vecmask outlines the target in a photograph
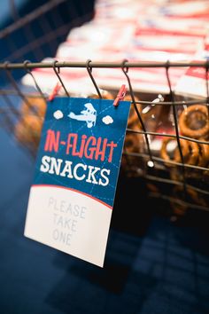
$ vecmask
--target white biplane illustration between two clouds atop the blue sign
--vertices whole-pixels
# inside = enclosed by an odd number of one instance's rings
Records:
[[[86,109],[82,110],[80,114],[74,114],[71,112],[68,114],[68,117],[78,121],[85,121],[87,122],[87,127],[92,128],[96,124],[97,110],[95,110],[90,103],[87,103],[84,106]]]

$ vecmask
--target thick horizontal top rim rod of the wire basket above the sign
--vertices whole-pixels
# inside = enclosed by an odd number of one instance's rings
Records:
[[[208,67],[209,60],[206,61],[192,61],[192,62],[169,62],[169,67]],[[143,61],[143,62],[126,62],[126,67],[164,67],[166,68],[167,62],[151,62],[151,61]],[[23,69],[24,62],[21,63],[8,63],[7,67],[9,69]],[[27,64],[28,68],[52,68],[53,62],[31,62]],[[70,61],[62,61],[56,64],[56,67],[86,67],[86,61],[83,62],[70,62]],[[121,68],[122,62],[97,62],[92,61],[90,63],[90,67],[97,67],[97,68]],[[0,63],[0,68],[4,68],[4,63]]]

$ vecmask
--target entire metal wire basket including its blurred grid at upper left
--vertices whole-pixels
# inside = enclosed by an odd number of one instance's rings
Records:
[[[51,0],[21,15],[11,1],[13,20],[0,30],[0,40],[4,45],[0,52],[0,127],[35,156],[49,95],[42,91],[43,86],[36,81],[33,70],[52,69],[66,97],[70,97],[71,92],[59,73],[60,69],[86,68],[87,77],[96,89],[96,95],[89,97],[115,98],[115,89],[107,90],[107,95],[102,93],[94,70],[118,68],[124,75],[128,99],[132,103],[121,171],[128,177],[142,177],[149,194],[168,200],[172,204],[172,213],[176,215],[184,215],[188,208],[209,211],[208,62],[37,62],[47,55],[54,55],[70,28],[93,17],[93,4],[93,1],[88,2],[83,10],[83,5],[77,2],[69,10],[66,0]],[[62,13],[59,12],[61,10]],[[135,90],[131,71],[132,68],[156,67],[165,71],[169,92],[163,97],[157,95],[157,101],[153,102],[152,92],[146,92],[144,96],[143,92]],[[180,67],[204,69],[205,98],[179,97],[174,93],[170,73]],[[19,78],[26,74],[31,76],[35,90],[19,83]],[[193,125],[187,125],[188,117],[189,124]],[[170,127],[167,128],[168,124]],[[194,132],[182,131],[182,125],[183,130]],[[176,146],[174,149],[169,148],[172,141]],[[159,143],[157,148],[156,143]]]

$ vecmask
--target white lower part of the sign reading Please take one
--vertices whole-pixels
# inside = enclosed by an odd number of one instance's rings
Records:
[[[34,185],[25,236],[102,267],[111,216],[111,207],[89,195]]]

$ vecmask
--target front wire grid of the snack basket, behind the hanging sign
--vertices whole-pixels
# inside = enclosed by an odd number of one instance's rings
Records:
[[[203,67],[205,69],[205,84],[207,98],[199,99],[176,99],[174,90],[171,87],[169,71],[172,67]],[[200,209],[208,211],[208,184],[209,184],[209,150],[208,145],[208,62],[162,62],[162,63],[136,63],[124,60],[122,62],[48,62],[48,63],[31,63],[25,61],[23,63],[2,63],[0,64],[1,74],[6,77],[12,89],[2,89],[0,91],[4,106],[1,106],[1,126],[4,126],[10,133],[14,134],[19,143],[27,147],[31,153],[35,154],[40,138],[41,126],[43,123],[43,111],[48,96],[42,92],[42,86],[39,86],[35,81],[35,75],[32,69],[37,67],[50,67],[54,69],[54,75],[57,75],[61,82],[66,97],[70,97],[70,92],[67,91],[65,82],[59,73],[60,68],[85,67],[87,69],[87,77],[93,82],[97,91],[97,95],[93,97],[103,98],[104,95],[100,92],[97,86],[97,80],[94,78],[92,69],[94,68],[120,68],[124,74],[124,81],[128,85],[128,99],[132,103],[132,117],[128,119],[127,136],[124,145],[123,159],[121,163],[121,171],[128,177],[143,177],[147,183],[148,190],[152,197],[169,200],[174,208],[174,214],[184,215],[188,208]],[[151,100],[141,100],[140,93],[135,93],[131,82],[130,69],[132,67],[162,67],[165,69],[167,85],[169,86],[169,95],[164,95],[166,101],[158,98],[158,102],[153,103]],[[19,88],[18,83],[13,78],[13,73],[18,70],[24,70],[30,74],[34,80],[36,93],[25,92]],[[128,72],[129,71],[129,72]],[[21,99],[23,106],[16,106],[12,101],[13,96]],[[114,98],[116,94],[112,93]],[[89,97],[92,97],[92,95]],[[110,98],[111,98],[110,97]],[[151,96],[153,97],[153,96]],[[35,99],[35,102],[33,101]],[[104,97],[106,98],[106,97]],[[37,104],[37,99],[41,101],[40,106]],[[3,104],[2,103],[2,104]],[[43,108],[44,107],[44,108]],[[147,122],[147,114],[144,114],[144,109],[151,108],[150,116],[156,114],[159,110],[159,120],[161,126],[163,122],[167,122],[169,117],[172,117],[173,131],[167,132],[151,130]],[[44,109],[44,110],[43,110]],[[29,110],[30,116],[34,117],[27,121],[25,129],[17,129],[19,121],[22,122],[26,112]],[[166,111],[166,115],[163,114]],[[191,115],[190,115],[191,114]],[[185,128],[190,129],[194,133],[193,136],[188,136],[187,133],[180,128],[181,116],[184,116]],[[135,117],[135,123],[131,121]],[[27,118],[28,119],[28,118]],[[165,120],[166,119],[166,120]],[[193,123],[194,125],[190,125]],[[20,124],[23,125],[22,123]],[[30,127],[30,128],[29,128]],[[21,136],[21,132],[23,137]],[[196,135],[198,133],[198,136]],[[20,134],[20,135],[19,135]],[[30,136],[30,141],[27,137]],[[159,151],[153,150],[153,138],[160,138]],[[168,152],[166,146],[169,142],[174,141],[177,145],[172,152]],[[137,144],[135,145],[135,143]]]

